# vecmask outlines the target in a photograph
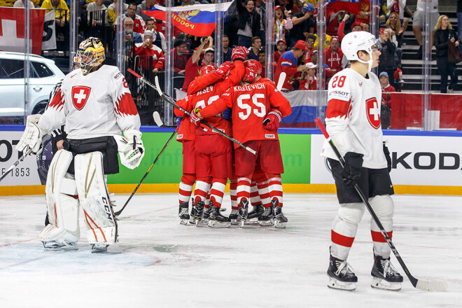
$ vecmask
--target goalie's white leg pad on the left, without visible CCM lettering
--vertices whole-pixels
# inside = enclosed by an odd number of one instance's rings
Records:
[[[76,183],[66,173],[71,161],[71,152],[58,151],[48,169],[45,197],[49,224],[40,234],[45,248],[76,249],[80,238]]]

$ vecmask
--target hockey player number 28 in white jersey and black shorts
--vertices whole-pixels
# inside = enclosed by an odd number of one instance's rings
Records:
[[[354,290],[358,278],[346,258],[365,210],[354,185],[358,183],[369,198],[390,238],[393,185],[389,175],[391,159],[380,125],[381,87],[370,71],[379,64],[379,43],[368,32],[351,32],[342,40],[342,52],[351,61],[351,68],[335,74],[329,82],[325,127],[344,157],[344,168],[327,141],[322,150],[332,168],[340,204],[332,223],[328,286]],[[371,286],[400,290],[402,276],[391,265],[390,247],[372,220],[370,230],[374,254]]]

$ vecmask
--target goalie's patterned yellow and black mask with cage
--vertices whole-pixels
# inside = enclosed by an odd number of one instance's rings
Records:
[[[99,38],[90,37],[78,45],[76,60],[80,62],[83,75],[96,71],[104,59],[104,46]]]

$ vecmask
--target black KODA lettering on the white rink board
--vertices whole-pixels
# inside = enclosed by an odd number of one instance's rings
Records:
[[[421,170],[458,170],[461,169],[461,157],[457,153],[406,152],[392,153],[391,167],[401,165],[405,169]]]

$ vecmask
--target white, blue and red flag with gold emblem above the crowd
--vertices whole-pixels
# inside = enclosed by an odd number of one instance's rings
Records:
[[[174,27],[194,36],[210,36],[215,30],[215,14],[221,13],[221,18],[230,8],[231,2],[218,4],[195,4],[193,6],[175,6],[172,8]],[[158,20],[166,20],[167,8],[156,4],[151,10],[143,13]]]

